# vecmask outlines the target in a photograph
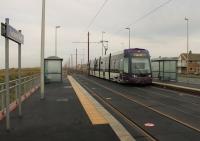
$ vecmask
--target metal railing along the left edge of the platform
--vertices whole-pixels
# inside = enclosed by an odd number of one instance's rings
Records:
[[[40,75],[31,75],[21,78],[21,93],[23,96],[29,92],[32,88],[40,84]],[[6,87],[5,83],[0,83],[0,111],[6,108]],[[12,80],[9,82],[9,96],[10,104],[19,99],[19,79]]]

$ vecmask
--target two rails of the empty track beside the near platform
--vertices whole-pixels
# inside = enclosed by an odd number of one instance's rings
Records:
[[[79,77],[80,77],[80,76],[79,76]],[[120,96],[120,97],[123,97],[124,99],[126,99],[126,100],[128,100],[128,101],[131,101],[131,102],[134,102],[134,103],[136,103],[136,104],[138,104],[138,105],[140,105],[140,106],[142,106],[142,107],[145,107],[146,109],[151,110],[152,112],[155,112],[155,113],[159,114],[159,115],[162,116],[162,117],[165,117],[165,118],[167,118],[167,119],[170,119],[170,120],[176,122],[177,124],[181,124],[181,125],[185,126],[186,128],[189,128],[189,129],[191,129],[191,130],[194,130],[195,132],[200,133],[200,130],[199,130],[198,128],[193,127],[193,126],[191,126],[191,125],[189,125],[189,124],[187,124],[187,123],[184,123],[184,122],[180,121],[179,119],[176,119],[176,118],[174,118],[174,117],[172,117],[172,116],[170,116],[170,115],[167,115],[167,114],[165,114],[165,113],[163,113],[163,112],[161,112],[161,111],[158,111],[157,109],[152,108],[150,105],[146,105],[146,104],[144,104],[144,103],[142,103],[142,102],[140,102],[140,101],[137,101],[137,100],[135,100],[135,99],[134,99],[133,97],[131,97],[131,96],[127,96],[127,95],[124,94],[124,93],[121,93],[121,92],[119,92],[119,91],[113,90],[113,89],[110,88],[110,87],[107,87],[107,86],[105,86],[105,85],[103,85],[103,84],[97,83],[97,82],[95,82],[95,81],[93,81],[93,80],[90,80],[90,79],[88,79],[88,78],[85,78],[85,77],[80,77],[80,78],[86,80],[86,83],[87,83],[87,84],[88,84],[88,82],[93,83],[93,84],[95,84],[96,86],[101,87],[101,88],[103,88],[103,89],[105,89],[105,90],[107,90],[107,91],[109,91],[109,92],[111,92],[111,93],[113,93],[113,94],[115,94],[115,95],[118,95],[118,96]],[[87,87],[86,84],[82,84],[82,85],[84,85],[85,87]],[[127,117],[127,116],[123,113],[123,111],[121,111],[121,110],[119,110],[118,108],[116,108],[115,106],[113,106],[106,98],[104,98],[104,97],[102,97],[102,96],[96,94],[94,90],[91,90],[91,89],[88,88],[88,87],[87,87],[87,90],[90,91],[90,93],[92,93],[93,96],[95,96],[96,98],[100,99],[100,101],[103,102],[105,105],[107,105],[108,107],[110,107],[111,109],[113,109],[113,110],[115,111],[115,113],[118,113],[118,115],[121,115],[121,117],[123,117],[123,119],[125,119],[125,120],[127,121],[127,123],[129,123],[129,125],[130,125],[130,124],[133,124],[134,126],[137,126],[138,128],[140,128],[140,129],[143,131],[143,132],[142,132],[143,134],[145,134],[146,136],[147,136],[147,134],[148,134],[149,139],[151,139],[151,140],[158,140],[158,139],[155,138],[152,134],[149,134],[149,132],[145,131],[145,129],[144,129],[143,127],[141,127],[140,125],[138,125],[133,119]]]

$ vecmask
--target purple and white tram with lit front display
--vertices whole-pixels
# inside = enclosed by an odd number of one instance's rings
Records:
[[[90,75],[119,83],[151,84],[149,52],[146,49],[131,48],[92,60]]]

